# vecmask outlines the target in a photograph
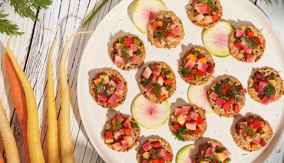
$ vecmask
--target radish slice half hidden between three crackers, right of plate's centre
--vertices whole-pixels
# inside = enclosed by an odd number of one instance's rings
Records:
[[[191,85],[189,90],[188,90],[188,101],[190,104],[194,104],[196,106],[198,106],[201,109],[206,110],[206,114],[214,114],[215,112],[212,110],[211,108],[211,104],[210,104],[210,100],[208,97],[208,101],[207,101],[207,105],[203,103],[201,103],[202,100],[200,100],[200,94],[198,94],[198,90],[203,89],[204,87],[208,87],[207,91],[203,92],[204,94],[207,93],[208,94],[208,90],[209,88],[212,86],[212,84],[218,81],[218,79],[216,78],[211,78],[207,83],[202,84],[202,85],[198,85],[198,86],[194,86]],[[203,89],[204,90],[204,89]],[[200,92],[200,91],[199,91]]]

